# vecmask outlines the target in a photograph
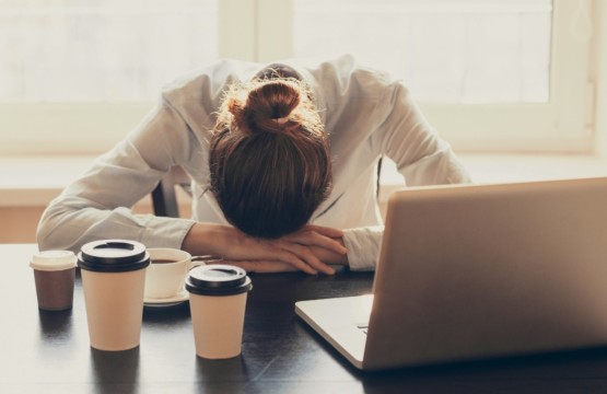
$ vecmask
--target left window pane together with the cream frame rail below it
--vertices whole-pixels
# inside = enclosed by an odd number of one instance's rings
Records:
[[[219,56],[218,0],[0,0],[2,153],[100,152]]]

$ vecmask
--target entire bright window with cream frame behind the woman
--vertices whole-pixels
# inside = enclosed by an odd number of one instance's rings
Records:
[[[402,78],[458,151],[587,151],[594,1],[0,0],[0,152],[105,150],[218,57],[341,53]]]

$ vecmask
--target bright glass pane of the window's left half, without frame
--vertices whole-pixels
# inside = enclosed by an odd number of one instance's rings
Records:
[[[0,9],[0,45],[10,48],[0,57],[3,102],[149,101],[175,74],[218,55],[214,1],[28,5]],[[212,39],[201,45],[202,37]]]

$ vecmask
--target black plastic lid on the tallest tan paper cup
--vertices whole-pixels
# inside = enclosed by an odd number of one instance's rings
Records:
[[[136,241],[94,241],[82,246],[78,254],[80,268],[98,273],[126,273],[149,265],[150,254]]]

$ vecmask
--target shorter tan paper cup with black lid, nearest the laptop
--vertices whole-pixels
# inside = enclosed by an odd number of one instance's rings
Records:
[[[186,289],[199,357],[227,359],[241,354],[246,298],[252,288],[240,267],[213,264],[189,271]]]

